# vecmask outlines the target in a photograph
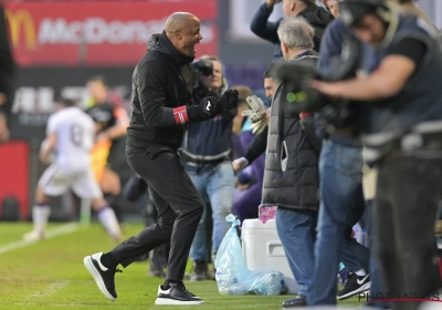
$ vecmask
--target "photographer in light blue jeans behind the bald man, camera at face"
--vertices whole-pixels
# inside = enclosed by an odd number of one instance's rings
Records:
[[[193,93],[196,104],[207,96],[220,99],[228,87],[220,60],[214,56],[202,56],[193,63],[193,68],[198,79]],[[181,163],[201,194],[206,208],[208,203],[212,208],[212,255],[217,254],[230,227],[225,217],[231,213],[233,204],[234,175],[230,163],[231,135],[235,116],[234,108],[208,122],[189,125],[180,152]],[[194,266],[190,280],[193,281],[208,279],[209,251],[204,220],[206,209],[190,249],[190,258]]]

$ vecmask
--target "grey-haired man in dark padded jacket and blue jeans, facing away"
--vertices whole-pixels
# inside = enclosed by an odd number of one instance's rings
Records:
[[[316,62],[318,54],[313,50],[314,29],[305,20],[284,19],[277,33],[286,61]],[[233,162],[233,167],[239,170],[267,151],[262,205],[277,206],[277,234],[299,286],[298,296],[285,301],[284,307],[305,304],[314,272],[320,148],[314,127],[307,126],[312,131],[309,134],[304,130],[306,123],[313,124],[313,115],[303,113],[291,117],[284,114],[287,94],[287,85],[281,83],[273,97],[267,130],[253,140],[245,158]]]

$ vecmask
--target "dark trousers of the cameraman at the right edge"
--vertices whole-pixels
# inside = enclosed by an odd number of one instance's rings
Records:
[[[442,187],[442,159],[389,157],[379,164],[375,199],[375,254],[383,298],[424,299],[441,287],[434,221]],[[419,302],[393,302],[415,310]]]

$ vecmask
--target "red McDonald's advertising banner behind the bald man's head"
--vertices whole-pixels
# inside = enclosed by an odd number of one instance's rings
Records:
[[[197,56],[217,54],[217,1],[69,1],[4,3],[17,63],[30,65],[133,65],[151,34],[176,11],[202,23]]]

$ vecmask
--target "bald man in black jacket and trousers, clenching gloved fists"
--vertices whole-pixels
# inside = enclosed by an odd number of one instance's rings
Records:
[[[84,258],[98,289],[109,300],[117,298],[115,272],[154,248],[170,242],[169,261],[156,304],[199,304],[203,300],[186,290],[182,279],[203,203],[179,161],[185,125],[213,118],[236,107],[238,92],[220,100],[193,103],[194,45],[201,40],[201,23],[190,13],[176,12],[162,33],[151,35],[148,52],[135,68],[126,159],[149,185],[158,223],[145,228],[109,252]]]

